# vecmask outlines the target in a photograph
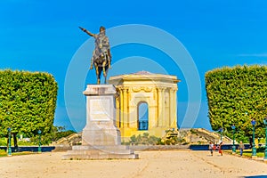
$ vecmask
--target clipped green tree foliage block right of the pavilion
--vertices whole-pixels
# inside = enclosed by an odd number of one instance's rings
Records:
[[[263,118],[267,115],[267,67],[236,66],[206,72],[208,117],[214,131],[223,128],[231,136],[235,125],[238,137],[264,137]],[[239,138],[238,138],[239,139]],[[244,140],[244,139],[243,139]]]

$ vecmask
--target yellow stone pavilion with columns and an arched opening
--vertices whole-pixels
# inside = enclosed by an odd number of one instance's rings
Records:
[[[117,89],[116,124],[122,141],[143,133],[162,137],[167,129],[177,129],[178,82],[176,76],[147,71],[109,77]],[[147,108],[143,115],[141,106]]]

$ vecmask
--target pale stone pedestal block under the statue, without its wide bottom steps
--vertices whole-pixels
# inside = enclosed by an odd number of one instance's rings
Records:
[[[113,85],[87,85],[83,145],[120,145],[119,130],[115,126],[115,93]]]

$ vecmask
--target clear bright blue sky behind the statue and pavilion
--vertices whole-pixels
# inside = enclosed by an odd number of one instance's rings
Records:
[[[76,110],[76,114],[68,116],[65,81],[75,54],[81,46],[91,46],[93,49],[93,40],[88,40],[89,36],[77,27],[82,26],[97,33],[100,26],[105,26],[108,29],[107,35],[113,39],[110,40],[111,45],[115,43],[116,38],[120,38],[120,33],[124,35],[120,32],[112,36],[114,28],[128,24],[158,28],[174,36],[190,53],[200,78],[200,90],[196,93],[200,92],[201,95],[198,103],[201,107],[198,116],[193,119],[192,126],[211,129],[207,117],[205,73],[223,66],[267,63],[266,9],[267,2],[264,0],[5,0],[0,3],[0,69],[45,71],[53,74],[59,84],[54,125],[65,125],[67,129],[79,131],[83,124],[73,126],[71,123],[76,119],[85,120],[85,103],[70,104],[68,107]],[[144,38],[147,36],[142,33],[138,35]],[[162,36],[153,36],[158,43],[160,37]],[[175,50],[176,46],[169,44],[168,47]],[[83,63],[88,68],[91,48],[86,51],[87,63]],[[186,74],[196,69],[191,69],[192,66],[179,66],[170,60],[171,57],[166,52],[145,44],[114,45],[111,53],[114,68],[109,71],[109,76],[148,70],[154,73],[164,71],[163,73],[180,78],[182,81],[178,85],[178,123],[184,127],[189,126],[182,124],[187,105],[191,102],[188,91],[197,90],[198,87],[190,88],[188,84],[192,81],[186,81]],[[133,56],[139,57],[134,59]],[[134,60],[137,58],[138,65],[134,66]],[[142,60],[147,63],[142,65]],[[174,60],[179,61],[182,58]],[[116,63],[121,68],[117,67]],[[148,68],[148,64],[152,67]],[[95,82],[93,70],[88,71],[86,75],[85,81],[77,83],[77,88],[81,88],[81,91],[73,93],[73,98],[82,95],[87,83]],[[72,77],[75,77],[75,73]]]

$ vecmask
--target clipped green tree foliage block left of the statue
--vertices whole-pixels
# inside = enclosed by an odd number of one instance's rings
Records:
[[[43,72],[0,70],[0,134],[49,133],[53,126],[58,85]]]

